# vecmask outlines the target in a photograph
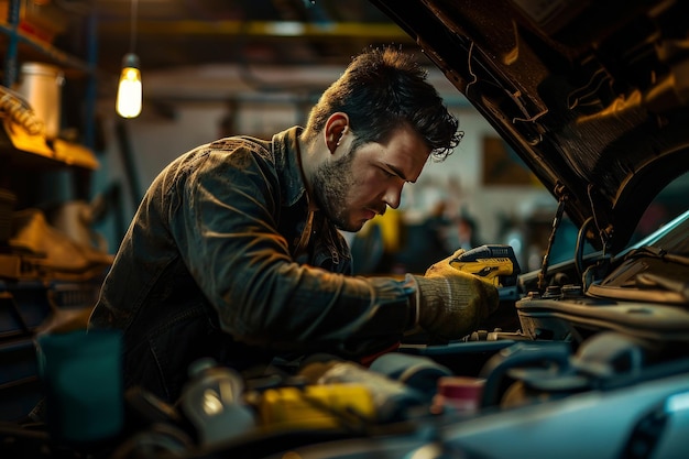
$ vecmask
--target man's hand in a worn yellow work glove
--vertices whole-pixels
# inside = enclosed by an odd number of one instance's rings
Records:
[[[474,331],[497,308],[497,289],[489,282],[450,266],[462,249],[431,265],[424,276],[408,274],[417,286],[417,324],[428,334],[459,339]]]

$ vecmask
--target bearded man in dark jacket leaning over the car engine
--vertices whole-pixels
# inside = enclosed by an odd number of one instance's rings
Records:
[[[411,55],[370,48],[305,128],[220,139],[162,171],[89,319],[122,331],[125,389],[174,402],[201,357],[251,374],[281,356],[362,362],[414,330],[462,337],[496,308],[495,288],[448,260],[425,275],[350,275],[338,229],[397,208],[461,139],[426,76]]]

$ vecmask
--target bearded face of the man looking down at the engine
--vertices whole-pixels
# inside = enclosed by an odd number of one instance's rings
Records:
[[[387,206],[400,206],[402,187],[416,182],[430,149],[406,127],[395,131],[385,144],[368,143],[356,151],[351,151],[352,134],[343,140],[331,161],[316,171],[314,195],[338,228],[359,231]]]

